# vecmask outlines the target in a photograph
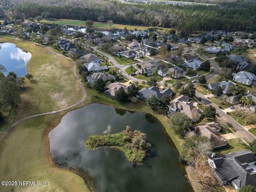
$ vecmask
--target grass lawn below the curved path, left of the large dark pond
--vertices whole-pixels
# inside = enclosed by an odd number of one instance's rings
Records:
[[[50,182],[50,186],[2,186],[7,191],[81,191],[88,192],[78,175],[53,165],[48,132],[65,112],[40,116],[21,122],[0,141],[1,181]]]

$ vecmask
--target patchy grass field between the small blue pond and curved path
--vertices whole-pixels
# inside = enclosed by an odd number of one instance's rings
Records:
[[[21,102],[15,114],[12,114],[15,116],[12,123],[25,116],[70,106],[82,99],[82,88],[72,60],[32,42],[3,36],[0,36],[0,42],[14,43],[32,54],[27,66],[28,73],[34,78],[31,82],[26,80],[25,90],[20,95]],[[0,131],[8,125],[10,121]]]

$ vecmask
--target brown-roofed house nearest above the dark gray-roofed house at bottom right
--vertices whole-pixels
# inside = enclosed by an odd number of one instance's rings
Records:
[[[192,126],[190,129],[199,136],[207,137],[214,144],[214,148],[223,147],[228,144],[228,141],[219,134],[222,128],[215,122],[199,124]]]

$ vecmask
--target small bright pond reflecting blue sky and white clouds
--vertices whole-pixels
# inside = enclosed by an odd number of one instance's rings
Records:
[[[18,77],[26,75],[31,54],[13,43],[1,43],[0,47],[0,64],[7,70],[4,74],[8,75],[8,72],[13,71]]]

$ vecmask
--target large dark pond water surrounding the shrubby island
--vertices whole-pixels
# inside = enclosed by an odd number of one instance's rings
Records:
[[[116,149],[87,150],[84,142],[92,134],[103,135],[130,125],[151,143],[150,156],[134,166]],[[178,151],[162,124],[152,116],[91,104],[67,113],[49,133],[50,152],[57,166],[83,171],[96,192],[190,192],[184,170],[178,166]]]

